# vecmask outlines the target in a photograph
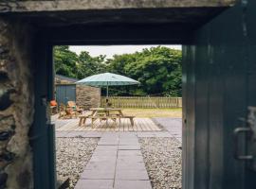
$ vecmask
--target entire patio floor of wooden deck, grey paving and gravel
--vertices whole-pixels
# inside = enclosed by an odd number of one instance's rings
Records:
[[[82,126],[79,118],[54,120],[57,167],[67,175],[80,167],[70,188],[181,188],[181,119],[136,117],[134,121],[132,127],[129,119],[122,119],[120,126],[97,120],[92,128],[90,120]],[[72,148],[66,140],[72,140]],[[74,158],[76,164],[70,164]]]

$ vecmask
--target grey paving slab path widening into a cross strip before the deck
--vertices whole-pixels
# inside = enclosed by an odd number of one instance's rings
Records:
[[[101,138],[76,189],[151,189],[138,137],[182,140],[180,118],[154,118],[165,131],[56,131],[56,137]],[[59,127],[58,127],[59,128]]]

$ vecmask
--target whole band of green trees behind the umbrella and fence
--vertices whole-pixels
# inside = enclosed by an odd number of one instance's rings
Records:
[[[143,49],[134,54],[91,57],[83,51],[79,56],[68,46],[54,48],[56,73],[84,78],[111,72],[138,80],[139,86],[113,86],[111,95],[181,96],[181,51],[163,46]],[[103,91],[104,94],[104,91]]]

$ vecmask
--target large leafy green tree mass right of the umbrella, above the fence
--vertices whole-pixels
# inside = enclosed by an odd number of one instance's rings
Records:
[[[127,94],[181,96],[181,51],[163,46],[142,52],[114,56],[106,61],[109,72],[137,79],[141,85],[132,86]],[[125,90],[125,88],[120,88]],[[116,90],[119,90],[116,87]],[[114,94],[120,94],[114,92]]]

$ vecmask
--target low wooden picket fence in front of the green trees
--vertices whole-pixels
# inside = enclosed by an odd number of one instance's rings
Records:
[[[181,97],[110,96],[108,101],[115,108],[168,109],[182,107]],[[101,107],[105,106],[106,97],[101,97]]]

